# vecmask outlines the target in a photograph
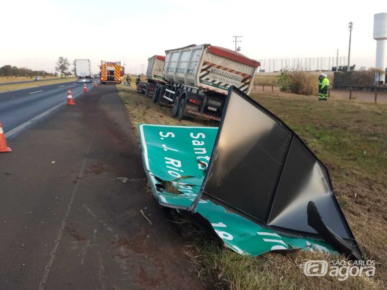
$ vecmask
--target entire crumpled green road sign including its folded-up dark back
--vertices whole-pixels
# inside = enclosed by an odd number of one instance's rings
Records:
[[[280,118],[237,88],[230,88],[219,128],[139,124],[139,133],[158,202],[201,216],[232,250],[363,259],[326,167]]]

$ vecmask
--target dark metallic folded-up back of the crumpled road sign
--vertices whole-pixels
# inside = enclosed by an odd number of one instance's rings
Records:
[[[227,96],[208,170],[191,210],[199,199],[289,235],[324,239],[323,232],[332,233],[339,237],[333,240],[348,243],[347,256],[362,258],[326,167],[279,117],[235,87]],[[322,219],[319,225],[328,231],[308,224],[310,201]]]

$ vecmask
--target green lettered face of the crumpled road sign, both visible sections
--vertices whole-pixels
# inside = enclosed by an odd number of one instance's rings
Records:
[[[202,186],[218,128],[152,124],[139,124],[138,128],[144,169],[154,196],[163,206],[187,210]],[[240,254],[258,256],[295,249],[335,253],[322,240],[265,229],[209,199],[198,200],[195,213],[208,221],[227,247]]]

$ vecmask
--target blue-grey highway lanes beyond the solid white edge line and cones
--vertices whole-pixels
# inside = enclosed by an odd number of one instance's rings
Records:
[[[86,86],[90,90],[93,83],[86,83]],[[38,121],[41,114],[56,109],[56,106],[66,101],[68,88],[72,97],[76,98],[83,92],[83,83],[71,81],[0,93],[0,122],[4,132],[7,134],[18,126],[21,126],[19,129],[24,129]],[[9,134],[6,136],[13,137]]]

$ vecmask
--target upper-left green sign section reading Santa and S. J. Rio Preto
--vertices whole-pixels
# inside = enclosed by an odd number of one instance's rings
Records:
[[[161,205],[187,209],[197,196],[217,127],[139,124],[144,169]]]

